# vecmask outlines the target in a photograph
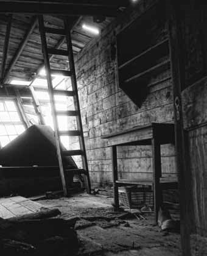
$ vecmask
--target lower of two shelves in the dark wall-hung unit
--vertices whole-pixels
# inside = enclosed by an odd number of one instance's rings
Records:
[[[153,72],[157,73],[158,70],[164,71],[168,66],[170,66],[170,59],[164,60],[164,62],[159,63],[158,65],[153,66],[152,68],[147,69],[146,71],[143,71],[142,73],[136,74],[133,77],[130,77],[129,79],[125,80],[124,82],[127,84],[129,82],[132,82],[133,80],[143,78],[147,75],[152,75]]]

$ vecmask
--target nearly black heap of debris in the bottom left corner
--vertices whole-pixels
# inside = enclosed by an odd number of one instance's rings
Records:
[[[79,240],[74,221],[65,219],[0,219],[1,252],[8,255],[76,255]]]

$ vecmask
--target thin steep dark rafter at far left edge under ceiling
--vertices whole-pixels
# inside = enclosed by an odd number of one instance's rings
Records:
[[[2,62],[1,62],[0,86],[2,85],[2,80],[4,79],[5,63],[7,61],[7,53],[8,53],[8,49],[9,49],[9,38],[10,38],[11,27],[12,27],[12,15],[9,15],[7,29],[5,32],[4,49],[3,49]]]

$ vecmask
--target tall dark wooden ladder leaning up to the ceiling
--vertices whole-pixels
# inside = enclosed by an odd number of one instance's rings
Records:
[[[50,98],[51,110],[52,110],[52,118],[53,118],[53,122],[54,122],[55,141],[56,141],[56,146],[57,146],[57,155],[58,155],[58,162],[59,162],[59,167],[60,167],[61,182],[63,185],[63,192],[64,192],[65,196],[68,195],[66,179],[65,179],[65,169],[63,167],[63,157],[64,156],[81,155],[83,169],[76,170],[75,174],[85,174],[83,176],[85,187],[86,187],[87,192],[91,193],[91,184],[90,184],[89,172],[88,172],[88,162],[87,162],[87,158],[86,158],[85,141],[84,141],[84,137],[83,137],[83,127],[82,127],[82,120],[81,120],[81,115],[80,115],[79,95],[78,95],[78,91],[77,91],[77,80],[76,80],[76,75],[75,75],[74,57],[73,57],[73,53],[72,53],[72,41],[71,41],[71,32],[70,32],[71,28],[69,26],[68,20],[65,20],[65,22],[64,22],[64,29],[54,29],[52,27],[45,27],[43,15],[38,16],[38,21],[39,21],[39,30],[40,30],[40,36],[41,36],[41,44],[42,44],[42,49],[43,49],[44,68],[46,71],[46,78],[47,78],[47,87],[48,87],[48,91],[49,91],[49,98]],[[65,36],[67,50],[47,48],[46,33]],[[70,70],[68,71],[68,70],[51,69],[50,62],[49,62],[49,54],[68,56]],[[54,73],[55,74],[57,74],[57,73],[63,74],[64,76],[71,77],[72,91],[54,90],[54,88],[52,86],[52,78],[51,78],[51,75]],[[74,111],[73,110],[57,111],[55,109],[55,98],[54,98],[55,94],[73,97],[75,110]],[[58,119],[57,119],[58,115],[75,116],[76,121],[77,121],[77,130],[60,131],[58,129]],[[80,150],[63,151],[61,149],[61,143],[60,143],[61,135],[62,136],[63,135],[78,136]]]

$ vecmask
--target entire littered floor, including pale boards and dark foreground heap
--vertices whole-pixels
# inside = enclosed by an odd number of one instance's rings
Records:
[[[84,193],[40,199],[38,203],[19,196],[1,199],[1,205],[15,215],[0,218],[1,255],[181,255],[180,235],[167,230],[166,241],[166,233],[154,226],[152,212],[114,212],[111,198]],[[169,216],[172,219],[169,213],[161,222]]]

